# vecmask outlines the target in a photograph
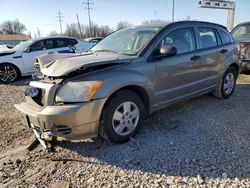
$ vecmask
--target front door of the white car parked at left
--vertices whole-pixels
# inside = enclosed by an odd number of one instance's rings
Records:
[[[33,43],[28,51],[23,52],[22,60],[25,66],[25,69],[28,73],[34,71],[34,63],[36,57],[54,52],[54,42],[53,39],[44,39]]]

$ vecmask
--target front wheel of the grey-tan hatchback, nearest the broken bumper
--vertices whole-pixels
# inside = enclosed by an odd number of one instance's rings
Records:
[[[142,99],[134,92],[121,90],[105,105],[99,134],[105,140],[124,143],[138,131],[145,114]]]

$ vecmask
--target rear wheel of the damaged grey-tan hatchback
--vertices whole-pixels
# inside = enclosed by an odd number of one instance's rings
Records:
[[[232,96],[235,86],[238,72],[234,67],[229,67],[224,73],[220,84],[213,92],[213,96],[219,99],[228,99]]]

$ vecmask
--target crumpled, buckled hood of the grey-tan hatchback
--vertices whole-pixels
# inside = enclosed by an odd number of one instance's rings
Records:
[[[96,65],[110,63],[130,62],[134,56],[121,55],[116,53],[87,53],[79,56],[58,59],[41,69],[46,76],[59,77],[67,75],[79,68],[86,68]]]

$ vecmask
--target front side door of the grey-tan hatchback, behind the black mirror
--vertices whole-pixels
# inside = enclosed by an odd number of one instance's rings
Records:
[[[196,51],[197,44],[193,27],[169,31],[156,45],[168,45],[177,49],[171,57],[156,58],[156,104],[167,105],[201,90],[201,62]]]

